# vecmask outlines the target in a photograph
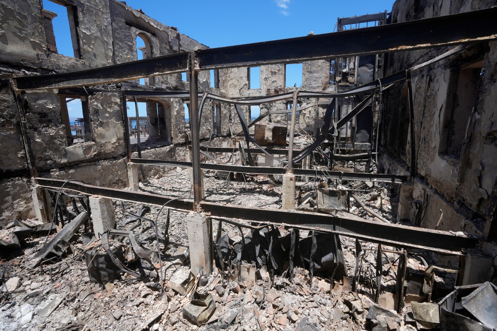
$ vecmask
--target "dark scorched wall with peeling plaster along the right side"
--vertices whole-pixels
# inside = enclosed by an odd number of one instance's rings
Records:
[[[492,0],[398,0],[392,23],[488,8]],[[387,75],[422,63],[449,48],[387,55]],[[471,45],[413,75],[415,158],[411,196],[420,200],[421,226],[482,233],[497,176],[497,43]],[[386,93],[383,145],[387,171],[411,163],[407,85]],[[402,197],[401,197],[402,200]],[[401,207],[415,219],[414,205]],[[406,213],[406,210],[409,210]]]

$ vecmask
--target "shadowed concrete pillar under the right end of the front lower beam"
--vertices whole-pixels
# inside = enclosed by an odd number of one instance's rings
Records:
[[[461,285],[481,284],[490,280],[494,269],[492,256],[479,249],[468,249],[466,253]]]

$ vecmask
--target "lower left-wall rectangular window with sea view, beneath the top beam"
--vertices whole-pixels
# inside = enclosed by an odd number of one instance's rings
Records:
[[[66,132],[67,146],[91,141],[88,102],[84,95],[62,95],[61,119]]]

